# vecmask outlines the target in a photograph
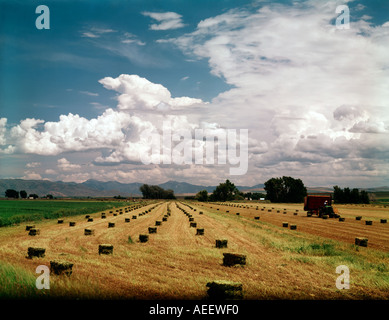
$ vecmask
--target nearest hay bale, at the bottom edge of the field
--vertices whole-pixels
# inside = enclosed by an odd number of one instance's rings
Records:
[[[215,300],[224,299],[242,299],[242,284],[226,280],[216,280],[208,282],[207,285],[208,298]]]

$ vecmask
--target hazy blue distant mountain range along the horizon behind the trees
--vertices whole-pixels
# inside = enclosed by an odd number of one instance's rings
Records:
[[[54,197],[113,197],[113,196],[140,196],[139,187],[143,183],[120,183],[116,181],[87,180],[82,183],[48,181],[48,180],[23,180],[23,179],[0,179],[0,197],[4,196],[5,190],[26,190],[27,194],[35,193],[38,196],[52,194]],[[193,195],[201,190],[212,192],[216,186],[201,186],[187,182],[168,181],[159,184],[161,188],[172,189],[176,195]],[[264,185],[237,186],[243,192],[264,192]],[[307,187],[309,193],[332,192],[328,187]],[[369,192],[389,191],[389,187],[365,188]]]

